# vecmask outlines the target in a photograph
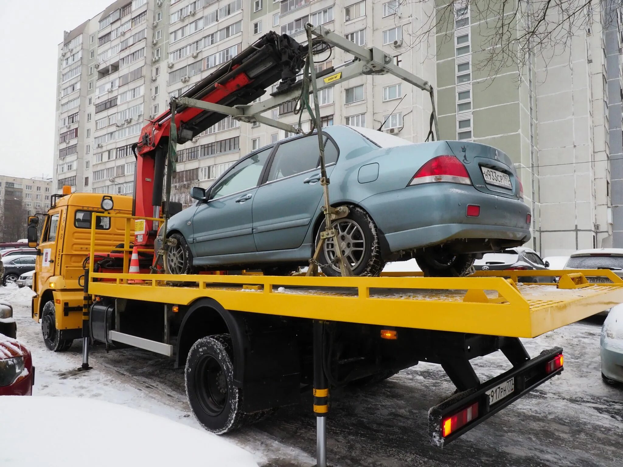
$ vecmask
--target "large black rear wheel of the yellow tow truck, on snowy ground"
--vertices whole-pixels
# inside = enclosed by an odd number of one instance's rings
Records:
[[[234,352],[229,334],[202,337],[195,342],[188,352],[184,379],[193,414],[209,432],[222,435],[272,413],[242,410],[242,388],[234,385]]]

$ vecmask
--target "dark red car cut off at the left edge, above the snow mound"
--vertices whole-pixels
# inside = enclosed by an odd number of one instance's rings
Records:
[[[0,334],[0,395],[32,395],[34,381],[31,352],[19,341]]]

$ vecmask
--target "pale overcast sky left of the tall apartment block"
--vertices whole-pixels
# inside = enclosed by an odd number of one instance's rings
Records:
[[[0,0],[0,174],[52,176],[57,46],[114,0]]]

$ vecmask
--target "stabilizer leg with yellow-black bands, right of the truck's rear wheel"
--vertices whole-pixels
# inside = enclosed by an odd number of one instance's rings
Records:
[[[313,321],[313,412],[316,415],[316,467],[326,466],[326,417],[329,383],[323,368],[323,321]]]

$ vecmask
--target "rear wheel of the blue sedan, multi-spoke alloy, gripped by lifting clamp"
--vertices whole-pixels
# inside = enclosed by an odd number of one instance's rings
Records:
[[[366,211],[357,206],[348,206],[348,215],[343,219],[333,222],[333,227],[340,232],[340,240],[343,242],[343,254],[347,259],[351,258],[350,263],[354,276],[378,276],[383,271],[385,263],[381,258],[381,245],[379,243],[378,231],[374,220]],[[354,229],[349,233],[348,229]],[[320,242],[320,232],[325,230],[323,220],[316,231],[316,242]],[[345,235],[344,235],[345,234]],[[333,239],[325,240],[325,246],[318,255],[318,263],[325,276],[341,276],[339,263],[335,255],[335,248],[332,247]],[[351,242],[348,242],[351,240]],[[358,245],[355,247],[354,245]],[[363,248],[360,249],[360,248]],[[349,255],[350,253],[350,255]],[[328,257],[329,255],[329,257]]]

